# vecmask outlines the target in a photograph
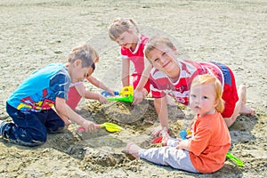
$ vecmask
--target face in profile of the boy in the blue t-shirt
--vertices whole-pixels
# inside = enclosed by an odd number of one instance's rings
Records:
[[[82,61],[77,60],[69,65],[69,76],[71,77],[71,83],[82,82],[88,75],[88,70],[91,68],[82,68]]]

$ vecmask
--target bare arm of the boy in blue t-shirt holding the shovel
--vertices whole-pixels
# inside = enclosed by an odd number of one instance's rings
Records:
[[[83,126],[86,132],[92,131],[96,128],[93,122],[85,120],[84,117],[81,117],[75,111],[70,109],[66,104],[66,100],[63,98],[56,97],[55,109],[66,125],[70,124],[69,119],[71,119],[72,121],[77,122],[77,124]]]

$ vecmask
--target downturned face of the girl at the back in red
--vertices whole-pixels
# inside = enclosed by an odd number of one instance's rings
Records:
[[[134,43],[134,32],[133,30],[125,31],[117,37],[116,42],[121,47],[130,49]]]

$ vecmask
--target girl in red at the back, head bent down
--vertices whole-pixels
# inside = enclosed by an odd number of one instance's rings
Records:
[[[148,76],[152,65],[148,63],[145,69],[143,49],[149,37],[139,33],[134,20],[126,18],[113,21],[109,26],[109,37],[121,46],[123,86],[130,85],[130,61],[132,61],[134,63],[134,73],[132,74],[134,77],[134,90],[139,85],[138,91],[134,91],[134,95],[141,95],[142,98],[145,97],[150,93],[150,80]],[[142,75],[143,71],[145,73]]]

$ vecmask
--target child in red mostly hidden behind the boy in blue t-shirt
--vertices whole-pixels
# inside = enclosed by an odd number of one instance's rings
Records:
[[[81,49],[84,49],[85,51],[87,51],[91,54],[91,57],[93,59],[94,64],[99,62],[99,54],[89,44],[85,43],[85,44],[78,45],[77,47],[72,49],[72,52],[75,52],[75,51],[81,50]],[[89,81],[91,84],[95,85],[96,87],[99,87],[102,90],[105,90],[108,93],[111,93],[112,95],[114,95],[114,90],[111,90],[107,85],[104,85],[101,81],[99,81],[97,78],[92,76],[93,70],[95,68],[94,64],[93,64],[92,68],[89,69],[86,80]],[[84,97],[85,99],[98,100],[101,103],[107,102],[107,99],[104,96],[102,96],[101,94],[93,93],[93,92],[85,90],[84,82],[78,82],[75,84],[70,84],[69,93],[68,93],[68,100],[66,102],[69,105],[69,107],[73,110],[78,110],[77,105],[78,105],[79,101],[81,101],[82,97]]]

